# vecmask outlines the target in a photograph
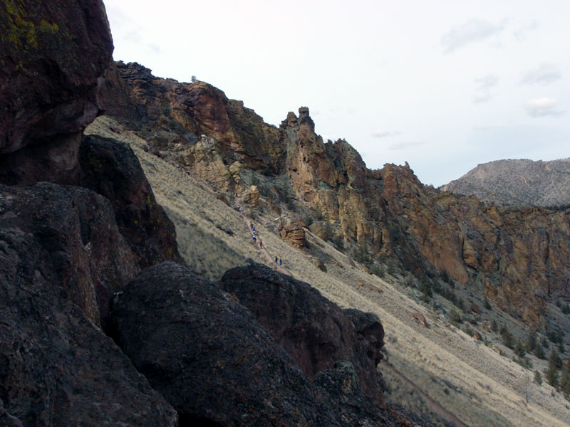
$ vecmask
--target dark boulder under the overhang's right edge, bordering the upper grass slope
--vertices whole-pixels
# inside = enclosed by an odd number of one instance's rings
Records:
[[[175,226],[158,205],[135,153],[124,142],[84,136],[81,185],[110,200],[120,233],[141,268],[181,262]]]

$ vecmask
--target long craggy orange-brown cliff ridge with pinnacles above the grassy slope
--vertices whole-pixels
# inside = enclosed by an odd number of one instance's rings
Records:
[[[116,67],[120,83],[108,85],[106,96],[128,99],[136,113],[108,114],[218,189],[247,193],[257,174],[273,180],[277,193],[277,179],[285,179],[297,205],[333,224],[348,248],[396,258],[416,275],[445,272],[532,325],[544,325],[547,301],[570,297],[570,211],[508,209],[442,193],[421,184],[408,164],[370,170],[343,139],[323,142],[306,107],[277,129],[206,83],[155,78],[136,63]],[[302,248],[302,228],[295,228],[291,241]]]

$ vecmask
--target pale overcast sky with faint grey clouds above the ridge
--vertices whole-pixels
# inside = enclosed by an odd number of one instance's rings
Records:
[[[195,75],[272,125],[307,106],[371,169],[439,186],[570,157],[570,1],[104,1],[115,60]]]

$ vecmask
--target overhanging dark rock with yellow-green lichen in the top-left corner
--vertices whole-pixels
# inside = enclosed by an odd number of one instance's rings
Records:
[[[0,182],[71,183],[113,52],[103,3],[3,1],[0,28]]]

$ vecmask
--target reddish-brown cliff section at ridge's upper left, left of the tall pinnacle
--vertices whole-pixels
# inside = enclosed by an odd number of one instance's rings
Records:
[[[137,63],[117,63],[116,69],[138,112],[134,120],[137,128],[142,128],[142,135],[157,146],[168,148],[178,162],[201,169],[201,175],[217,181],[218,186],[235,184],[231,179],[235,176],[235,170],[231,170],[234,162],[279,172],[284,157],[279,130],[264,125],[243,102],[228,100],[221,90],[204,82],[155,78]],[[107,99],[127,102],[115,77],[105,88]],[[130,113],[115,110],[108,110],[108,114],[132,118]],[[202,135],[207,135],[205,149],[204,144],[197,144]]]

